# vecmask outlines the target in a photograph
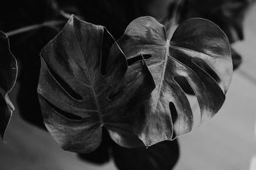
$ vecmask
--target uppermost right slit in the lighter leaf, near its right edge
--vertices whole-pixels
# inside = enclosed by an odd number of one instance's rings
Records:
[[[212,69],[212,67],[209,66],[209,64],[207,64],[207,62],[205,62],[205,60],[193,59],[192,62],[194,64],[196,64],[196,66],[200,67],[200,69],[204,70],[207,74],[209,74],[209,76],[211,76],[211,78],[213,78],[216,81],[216,83],[218,83],[218,85],[224,92],[224,86],[223,86],[223,83],[220,81],[220,77],[215,73],[215,71]]]

